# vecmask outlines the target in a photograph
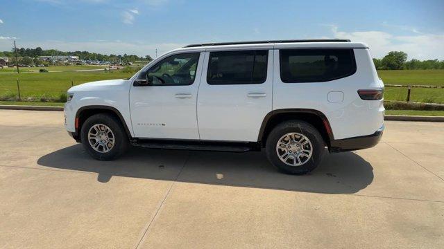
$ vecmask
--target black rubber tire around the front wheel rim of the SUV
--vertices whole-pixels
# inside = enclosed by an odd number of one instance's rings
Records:
[[[94,124],[105,124],[114,134],[114,146],[112,146],[110,151],[99,152],[94,150],[92,145],[89,144],[88,132]],[[99,113],[87,118],[80,130],[80,138],[88,154],[97,160],[113,160],[125,153],[129,145],[128,136],[126,136],[125,129],[120,120],[108,113]]]

